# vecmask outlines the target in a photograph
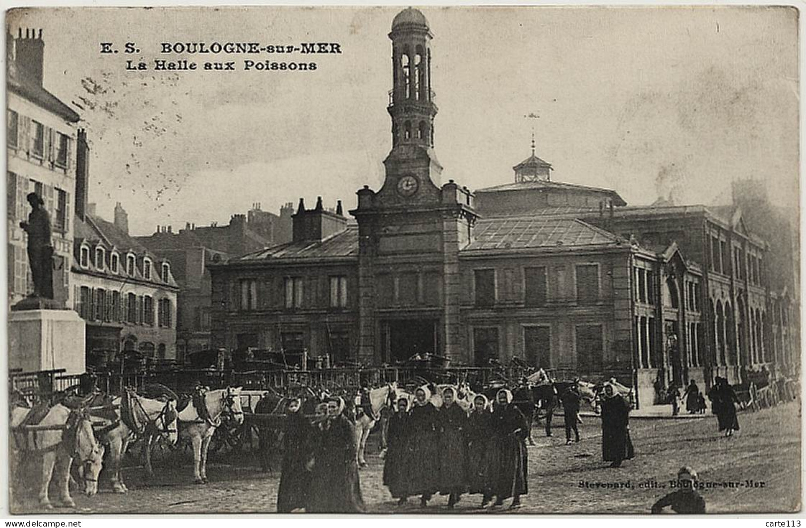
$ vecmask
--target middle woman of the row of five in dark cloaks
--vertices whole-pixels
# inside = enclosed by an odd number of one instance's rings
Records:
[[[456,390],[442,390],[442,408],[437,414],[439,431],[439,492],[449,495],[448,508],[459,502],[466,488],[467,413],[456,402]]]

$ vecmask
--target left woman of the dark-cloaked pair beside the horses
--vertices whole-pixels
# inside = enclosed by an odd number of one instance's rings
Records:
[[[313,432],[301,411],[302,402],[293,398],[285,417],[283,464],[280,489],[277,492],[277,513],[289,514],[305,507],[310,486],[310,472],[305,464],[310,459],[310,435]]]

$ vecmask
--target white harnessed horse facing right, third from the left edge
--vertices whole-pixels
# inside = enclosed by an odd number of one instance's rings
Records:
[[[180,438],[189,439],[193,445],[193,479],[196,484],[207,483],[207,450],[215,428],[221,424],[224,410],[232,415],[236,423],[243,424],[241,387],[209,390],[202,395],[206,412],[197,409],[193,403],[179,411]]]

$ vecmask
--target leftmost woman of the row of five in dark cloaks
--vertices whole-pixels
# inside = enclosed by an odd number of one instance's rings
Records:
[[[397,499],[397,505],[404,505],[409,500],[409,468],[412,464],[408,398],[397,399],[397,412],[389,417],[386,435],[384,486],[388,486],[389,493]]]

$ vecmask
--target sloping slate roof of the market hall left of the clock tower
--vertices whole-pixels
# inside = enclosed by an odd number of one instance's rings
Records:
[[[322,241],[305,240],[274,245],[264,250],[232,258],[229,262],[281,261],[298,258],[351,258],[358,257],[358,226],[348,225]]]

